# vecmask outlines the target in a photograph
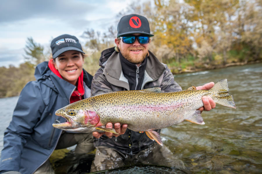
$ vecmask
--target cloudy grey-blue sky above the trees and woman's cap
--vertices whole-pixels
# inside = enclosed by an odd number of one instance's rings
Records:
[[[45,48],[53,38],[81,35],[86,29],[106,31],[130,0],[1,0],[0,67],[24,62],[28,37]],[[82,40],[81,40],[82,39]]]

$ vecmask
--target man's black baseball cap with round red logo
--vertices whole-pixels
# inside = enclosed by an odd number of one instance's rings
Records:
[[[154,36],[150,34],[149,23],[144,16],[138,14],[123,16],[118,22],[117,37],[134,33]]]

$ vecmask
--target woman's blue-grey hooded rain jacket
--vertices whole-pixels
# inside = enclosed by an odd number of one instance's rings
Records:
[[[53,123],[65,122],[55,111],[70,103],[76,86],[55,75],[43,62],[36,67],[36,81],[23,88],[12,121],[4,133],[0,171],[36,171],[56,148],[62,130]],[[92,76],[84,71],[84,97],[90,97]]]

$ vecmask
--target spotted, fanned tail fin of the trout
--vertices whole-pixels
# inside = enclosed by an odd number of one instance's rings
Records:
[[[213,91],[214,95],[212,98],[217,104],[236,108],[232,95],[229,95],[228,93],[227,79],[219,80],[210,91]]]

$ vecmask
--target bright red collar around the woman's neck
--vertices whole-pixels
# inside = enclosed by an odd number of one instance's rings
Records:
[[[50,59],[49,62],[48,62],[48,67],[50,68],[50,70],[55,74],[57,75],[58,77],[60,77],[61,79],[62,76],[60,75],[59,71],[54,67],[54,64],[52,62],[53,60]],[[82,73],[80,74],[80,76],[78,77],[78,80],[77,80],[77,90],[75,90],[73,93],[72,93],[72,96],[70,98],[70,103],[72,102],[76,102],[80,99],[82,99],[82,95],[84,95],[85,93],[85,89],[84,89],[84,83],[83,83],[83,79],[84,79],[84,73],[83,73],[83,70],[82,70]],[[76,97],[73,97],[73,96],[79,96],[77,97],[78,99],[73,99],[72,98],[76,98]],[[72,102],[71,102],[72,100]],[[75,101],[76,100],[76,101]]]

